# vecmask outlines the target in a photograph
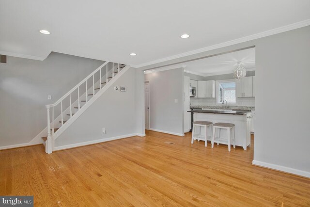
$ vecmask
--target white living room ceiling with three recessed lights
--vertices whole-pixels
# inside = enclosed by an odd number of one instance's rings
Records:
[[[306,20],[298,24],[305,26],[309,11],[310,0],[1,0],[0,53],[43,60],[55,51],[142,65]]]

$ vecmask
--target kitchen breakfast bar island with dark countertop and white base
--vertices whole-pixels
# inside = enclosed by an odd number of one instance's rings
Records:
[[[209,121],[213,124],[217,122],[232,123],[235,125],[235,142],[236,146],[242,146],[244,150],[251,143],[251,112],[243,110],[203,110],[192,109],[188,111],[192,113],[194,121]],[[194,133],[194,132],[192,132]],[[211,132],[208,132],[211,135]],[[219,132],[215,135],[217,142]],[[211,141],[212,136],[208,136],[207,140]],[[227,130],[221,130],[219,143],[227,144]]]

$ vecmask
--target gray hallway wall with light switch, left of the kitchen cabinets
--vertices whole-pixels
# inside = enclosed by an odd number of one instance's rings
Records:
[[[183,76],[183,68],[145,75],[150,86],[151,129],[183,134]]]

